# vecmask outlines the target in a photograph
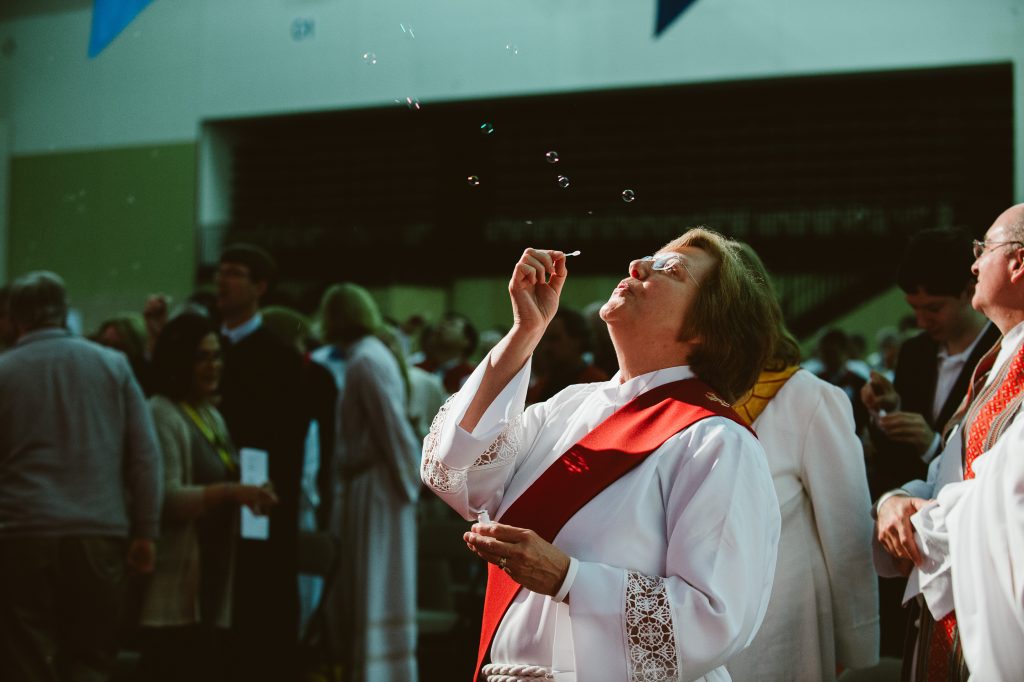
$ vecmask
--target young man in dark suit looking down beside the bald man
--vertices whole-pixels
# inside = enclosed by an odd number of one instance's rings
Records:
[[[923,331],[900,348],[893,383],[878,373],[861,389],[874,416],[869,433],[871,497],[927,477],[942,447],[940,433],[967,393],[978,360],[999,331],[971,306],[974,275],[971,236],[961,229],[926,229],[910,238],[897,283]],[[882,654],[903,650],[906,614],[900,608],[906,581],[880,581]]]

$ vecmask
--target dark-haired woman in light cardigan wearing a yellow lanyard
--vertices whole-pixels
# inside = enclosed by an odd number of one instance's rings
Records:
[[[268,488],[243,485],[234,447],[212,402],[220,342],[209,318],[171,319],[153,354],[150,400],[164,462],[163,527],[142,602],[145,679],[223,679],[218,632],[231,612],[238,508],[276,504]]]

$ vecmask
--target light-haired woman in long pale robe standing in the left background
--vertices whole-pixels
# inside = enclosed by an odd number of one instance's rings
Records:
[[[338,285],[324,310],[341,329],[345,388],[338,401],[332,530],[344,548],[330,621],[352,682],[415,682],[416,501],[419,444],[394,355],[374,333],[370,294]]]

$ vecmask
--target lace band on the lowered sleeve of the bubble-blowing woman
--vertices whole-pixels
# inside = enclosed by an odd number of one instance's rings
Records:
[[[665,579],[629,571],[626,576],[626,649],[630,682],[663,682],[679,677],[676,636]]]

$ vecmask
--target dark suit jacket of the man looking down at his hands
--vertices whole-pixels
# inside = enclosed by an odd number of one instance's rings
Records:
[[[896,392],[900,395],[900,411],[914,412],[924,416],[929,425],[941,433],[942,427],[964,399],[968,384],[971,382],[971,374],[978,360],[998,338],[999,330],[995,325],[987,323],[981,340],[964,364],[964,369],[956,377],[956,382],[942,404],[942,410],[932,420],[928,415],[932,412],[935,385],[938,381],[939,344],[924,333],[904,341],[899,351],[896,379],[893,382]],[[921,460],[912,447],[890,440],[874,427],[873,423],[870,435],[876,450],[870,475],[872,499],[878,499],[883,493],[899,487],[908,480],[923,479],[928,475],[928,464]]]

